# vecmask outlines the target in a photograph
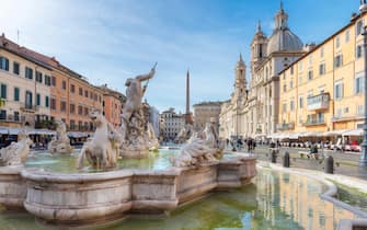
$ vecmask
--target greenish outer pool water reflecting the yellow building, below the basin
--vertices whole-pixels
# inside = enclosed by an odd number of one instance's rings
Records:
[[[335,229],[354,215],[320,199],[325,186],[305,176],[261,170],[253,184],[233,192],[214,193],[182,206],[169,217],[135,216],[104,230],[185,229]],[[0,215],[0,229],[53,229],[20,212]],[[55,228],[56,229],[56,228]]]

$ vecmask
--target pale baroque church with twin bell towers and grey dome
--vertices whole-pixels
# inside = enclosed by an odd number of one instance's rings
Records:
[[[280,92],[278,73],[306,51],[301,39],[290,31],[288,14],[280,3],[272,36],[266,37],[260,22],[257,24],[251,43],[249,84],[242,55],[236,65],[234,92],[221,106],[221,138],[255,138],[276,133]]]

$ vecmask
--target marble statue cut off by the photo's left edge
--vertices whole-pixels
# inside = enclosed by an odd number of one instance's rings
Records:
[[[11,142],[7,148],[0,149],[0,165],[23,165],[30,153],[30,145],[33,141],[28,138],[25,130],[18,134],[18,142]]]

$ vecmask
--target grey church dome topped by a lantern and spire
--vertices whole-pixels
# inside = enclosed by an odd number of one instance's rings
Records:
[[[280,10],[275,16],[275,30],[267,44],[268,55],[274,51],[302,49],[302,41],[288,28],[287,20],[288,15],[280,5]]]

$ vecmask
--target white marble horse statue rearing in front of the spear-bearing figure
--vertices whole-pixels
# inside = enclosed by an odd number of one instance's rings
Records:
[[[95,133],[83,145],[78,158],[78,168],[84,165],[84,160],[94,169],[114,168],[119,154],[121,135],[113,128],[106,118],[96,110],[92,110],[90,117],[95,125]]]

